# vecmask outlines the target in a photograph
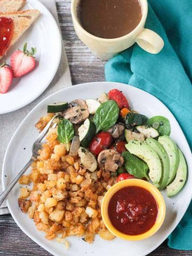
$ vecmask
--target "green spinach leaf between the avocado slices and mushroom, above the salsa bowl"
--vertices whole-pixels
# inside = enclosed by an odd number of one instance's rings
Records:
[[[147,172],[149,170],[148,165],[139,159],[137,156],[132,155],[129,151],[125,151],[123,154],[124,166],[127,172],[134,175],[134,177],[149,180]]]

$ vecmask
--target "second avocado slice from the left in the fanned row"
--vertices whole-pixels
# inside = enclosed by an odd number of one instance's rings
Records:
[[[149,145],[151,148],[153,148],[154,151],[156,151],[162,165],[162,177],[159,183],[156,187],[158,189],[164,189],[167,184],[167,180],[169,179],[169,173],[170,173],[170,162],[169,157],[163,148],[163,146],[155,139],[148,138],[146,139],[147,145]]]

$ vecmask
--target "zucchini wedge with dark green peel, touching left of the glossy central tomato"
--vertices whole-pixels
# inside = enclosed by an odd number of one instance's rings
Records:
[[[78,129],[79,140],[81,141],[81,145],[84,148],[89,147],[94,135],[95,135],[95,125],[90,119],[86,119],[84,124],[82,124]]]

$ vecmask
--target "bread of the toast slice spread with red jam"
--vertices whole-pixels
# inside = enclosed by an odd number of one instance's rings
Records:
[[[38,18],[40,12],[38,10],[27,10],[19,12],[0,13],[0,18],[10,18],[13,20],[13,35],[9,47],[4,52],[4,55],[9,51],[10,47],[15,44],[25,31]],[[0,55],[0,60],[3,56]]]

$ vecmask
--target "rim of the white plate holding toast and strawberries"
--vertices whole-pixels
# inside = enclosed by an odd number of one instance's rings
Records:
[[[31,0],[28,0],[28,1],[31,1]],[[57,34],[58,34],[58,36],[57,36],[57,38],[58,38],[58,50],[57,51],[58,51],[58,54],[57,54],[57,60],[55,61],[55,63],[57,63],[57,65],[55,65],[53,75],[50,77],[49,82],[47,82],[47,85],[44,86],[44,88],[42,90],[40,90],[38,92],[38,94],[36,94],[33,98],[31,98],[26,103],[23,103],[20,107],[13,107],[13,108],[10,108],[9,110],[3,110],[3,111],[0,110],[0,115],[8,114],[8,113],[11,113],[15,110],[21,109],[21,108],[29,105],[35,99],[37,99],[47,89],[47,87],[51,84],[51,82],[52,82],[52,80],[53,80],[53,78],[54,78],[54,76],[57,73],[57,70],[59,68],[59,64],[60,64],[60,60],[61,60],[61,54],[62,54],[62,35],[61,35],[60,27],[59,27],[57,21],[55,20],[55,18],[53,17],[53,14],[50,12],[49,9],[47,9],[47,7],[43,3],[41,3],[39,0],[33,0],[33,2],[36,2],[37,4],[39,4],[43,9],[45,9],[47,11],[47,13],[49,13],[49,19],[52,20],[52,23],[55,26],[55,31],[57,30]]]

